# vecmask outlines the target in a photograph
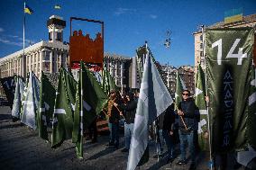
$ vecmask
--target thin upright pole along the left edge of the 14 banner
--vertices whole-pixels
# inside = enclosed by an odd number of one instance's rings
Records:
[[[204,55],[204,68],[205,68],[205,81],[207,87],[207,76],[206,76],[206,26],[202,25],[202,36],[203,36],[203,55]],[[208,91],[206,90],[206,96],[208,97]],[[213,157],[212,157],[212,142],[211,142],[211,131],[210,131],[210,118],[209,118],[209,102],[206,102],[206,112],[207,112],[207,129],[208,129],[208,136],[209,136],[209,150],[210,150],[210,169],[213,169]]]

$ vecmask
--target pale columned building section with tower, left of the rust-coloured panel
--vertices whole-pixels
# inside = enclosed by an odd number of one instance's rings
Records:
[[[49,41],[41,40],[24,51],[22,49],[0,58],[1,77],[25,76],[30,70],[40,77],[41,71],[50,74],[58,72],[61,65],[67,66],[69,45],[62,41],[66,22],[61,17],[52,15],[47,26]]]

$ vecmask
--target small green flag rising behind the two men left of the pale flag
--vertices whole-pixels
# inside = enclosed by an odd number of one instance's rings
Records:
[[[114,78],[107,71],[106,67],[103,69],[102,86],[106,94],[109,94],[111,90],[118,91],[118,86],[114,83]]]

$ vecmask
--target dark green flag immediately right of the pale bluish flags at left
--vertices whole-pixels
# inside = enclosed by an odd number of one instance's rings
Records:
[[[37,116],[38,132],[41,139],[48,139],[47,125],[54,111],[56,90],[48,77],[41,71],[40,101]]]

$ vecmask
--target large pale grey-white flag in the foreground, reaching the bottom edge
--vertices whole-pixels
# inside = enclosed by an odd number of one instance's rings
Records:
[[[147,44],[146,49],[149,51]],[[143,160],[143,158],[146,159],[148,155],[149,125],[160,113],[164,112],[171,103],[172,98],[169,91],[166,85],[164,85],[149,52],[147,52],[140,96],[135,114],[127,170],[134,170],[136,166],[147,161]]]

